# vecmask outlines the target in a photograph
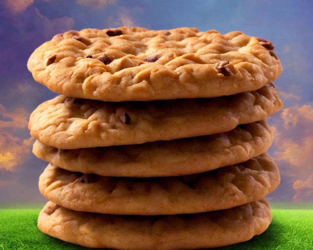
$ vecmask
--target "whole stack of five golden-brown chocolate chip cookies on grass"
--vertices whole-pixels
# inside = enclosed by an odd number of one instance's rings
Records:
[[[60,96],[30,117],[50,201],[39,229],[86,247],[196,249],[269,226],[280,182],[264,121],[282,103],[271,42],[195,28],[85,29],[28,69]]]

